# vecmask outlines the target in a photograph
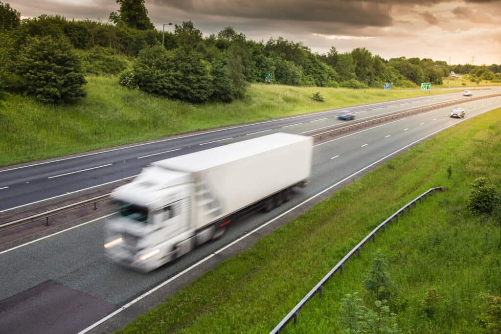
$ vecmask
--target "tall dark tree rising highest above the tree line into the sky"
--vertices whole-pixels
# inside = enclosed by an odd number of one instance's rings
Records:
[[[150,30],[154,29],[148,18],[148,10],[144,6],[144,0],[116,0],[120,4],[118,14],[112,12],[109,20],[115,24],[123,22],[127,27]]]

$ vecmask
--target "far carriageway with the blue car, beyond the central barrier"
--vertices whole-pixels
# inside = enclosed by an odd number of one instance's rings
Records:
[[[474,96],[501,92],[501,87],[477,90]],[[431,95],[352,107],[357,119],[384,115],[462,98],[462,93]],[[223,145],[234,140],[262,136],[276,131],[308,134],[309,131],[342,123],[339,110],[292,116],[278,120],[174,136],[149,143],[133,144],[99,152],[62,157],[33,164],[0,168],[0,213],[29,206],[49,198],[112,183],[137,175],[149,163],[169,157]]]

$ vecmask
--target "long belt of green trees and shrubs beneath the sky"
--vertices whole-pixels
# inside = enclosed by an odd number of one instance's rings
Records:
[[[0,90],[68,102],[85,96],[85,75],[119,75],[120,84],[151,94],[229,102],[244,96],[249,83],[265,82],[265,73],[271,73],[272,83],[292,86],[413,88],[422,82],[439,85],[450,71],[485,80],[499,79],[501,72],[498,65],[385,60],[366,48],[339,53],[332,47],[317,54],[281,37],[249,40],[231,27],[204,37],[191,21],[162,34],[149,20],[144,0],[116,2],[118,11],[107,23],[48,15],[21,20],[0,2]]]

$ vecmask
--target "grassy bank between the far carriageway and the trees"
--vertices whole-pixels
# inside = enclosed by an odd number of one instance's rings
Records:
[[[0,166],[196,130],[428,94],[252,85],[249,97],[243,101],[191,105],[130,91],[119,86],[113,77],[88,77],[87,81],[87,98],[71,105],[43,105],[20,95],[0,101]],[[324,95],[324,103],[310,99],[315,91]],[[431,94],[443,93],[447,92]]]

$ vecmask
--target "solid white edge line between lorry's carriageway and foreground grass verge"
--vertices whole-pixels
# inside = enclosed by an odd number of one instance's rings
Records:
[[[488,111],[488,110],[487,110],[487,111]],[[482,112],[482,113],[480,113],[480,114],[483,114],[483,113],[485,113],[485,112],[487,112],[487,111],[484,111],[484,112]],[[477,114],[477,115],[480,115],[480,114]],[[477,116],[477,115],[475,115],[475,116]],[[473,116],[473,117],[474,117],[474,116]],[[470,118],[471,118],[471,117],[470,117]],[[161,287],[165,286],[166,284],[170,283],[171,281],[173,281],[173,280],[174,280],[174,279],[176,279],[177,277],[179,277],[179,276],[183,275],[184,273],[186,273],[186,272],[190,271],[191,269],[193,269],[194,267],[198,266],[199,264],[201,264],[201,263],[203,263],[203,262],[207,261],[208,259],[210,259],[210,258],[211,258],[211,257],[213,257],[214,255],[219,254],[220,252],[224,251],[224,250],[225,250],[225,249],[227,249],[228,247],[231,247],[231,246],[232,246],[232,245],[234,245],[235,243],[237,243],[237,242],[239,242],[239,241],[241,241],[241,240],[245,239],[245,238],[246,238],[246,237],[248,237],[249,235],[251,235],[251,234],[253,234],[253,233],[255,233],[255,232],[259,231],[259,230],[260,230],[260,229],[262,229],[263,227],[266,227],[267,225],[271,224],[271,223],[272,223],[272,222],[274,222],[275,220],[277,220],[277,219],[279,219],[279,218],[281,218],[281,217],[285,216],[286,214],[288,214],[289,212],[291,212],[291,211],[293,211],[293,210],[297,209],[298,207],[302,206],[303,204],[308,203],[309,201],[311,201],[312,199],[314,199],[314,198],[316,198],[316,197],[320,196],[320,195],[321,195],[321,194],[323,194],[324,192],[331,190],[332,188],[334,188],[334,187],[336,187],[337,185],[339,185],[339,184],[341,184],[341,183],[345,182],[346,180],[349,180],[349,179],[350,179],[350,178],[352,178],[353,176],[355,176],[355,175],[357,175],[357,174],[359,174],[359,173],[363,172],[364,170],[366,170],[366,169],[368,169],[368,168],[370,168],[370,167],[374,166],[375,164],[378,164],[379,162],[381,162],[381,161],[383,161],[383,160],[385,160],[385,159],[387,159],[387,158],[391,157],[392,155],[394,155],[394,154],[396,154],[396,153],[398,153],[398,152],[400,152],[400,151],[402,151],[402,150],[405,150],[405,149],[406,149],[406,148],[408,148],[409,146],[412,146],[412,145],[414,145],[414,144],[416,144],[416,143],[418,143],[418,142],[422,141],[423,139],[426,139],[426,138],[428,138],[428,137],[430,137],[430,136],[432,136],[432,135],[434,135],[434,134],[436,134],[436,133],[438,133],[438,132],[440,132],[440,131],[443,131],[443,130],[445,130],[445,129],[447,129],[447,128],[450,128],[450,127],[452,127],[452,126],[454,126],[454,125],[456,125],[456,124],[459,124],[459,123],[461,123],[461,122],[464,122],[464,121],[466,121],[466,120],[468,120],[468,119],[470,119],[470,118],[465,118],[465,119],[463,119],[463,120],[461,120],[461,121],[459,121],[459,122],[456,122],[456,123],[454,123],[454,124],[448,125],[448,126],[446,126],[446,127],[444,127],[444,128],[441,128],[441,129],[439,129],[439,130],[436,130],[436,131],[434,131],[434,132],[432,132],[432,133],[429,133],[429,134],[427,134],[426,136],[421,137],[421,138],[419,138],[419,139],[417,139],[417,140],[413,141],[412,143],[407,144],[407,145],[405,145],[405,146],[403,146],[403,147],[399,148],[399,149],[398,149],[398,150],[396,150],[396,151],[393,151],[392,153],[390,153],[390,154],[388,154],[388,155],[386,155],[386,156],[382,157],[381,159],[376,160],[375,162],[373,162],[373,163],[371,163],[371,164],[369,164],[369,165],[365,166],[364,168],[359,169],[358,171],[356,171],[355,173],[353,173],[353,174],[351,174],[351,175],[349,175],[349,176],[345,177],[345,178],[344,178],[344,179],[342,179],[341,181],[338,181],[338,182],[334,183],[333,185],[331,185],[331,186],[327,187],[326,189],[324,189],[324,190],[322,190],[321,192],[319,192],[319,193],[317,193],[317,194],[313,195],[312,197],[310,197],[310,198],[308,198],[308,199],[304,200],[303,202],[299,203],[298,205],[296,205],[296,206],[292,207],[291,209],[289,209],[289,210],[287,210],[287,211],[285,211],[285,212],[281,213],[281,214],[280,214],[280,215],[278,215],[277,217],[272,218],[271,220],[267,221],[267,222],[266,222],[266,223],[264,223],[263,225],[258,226],[257,228],[255,228],[254,230],[252,230],[252,231],[248,232],[247,234],[242,235],[241,237],[239,237],[238,239],[234,240],[233,242],[231,242],[231,243],[227,244],[226,246],[224,246],[224,247],[220,248],[219,250],[215,251],[214,253],[212,253],[212,254],[210,254],[210,255],[206,256],[205,258],[201,259],[200,261],[196,262],[195,264],[191,265],[190,267],[188,267],[188,268],[184,269],[183,271],[181,271],[180,273],[176,274],[175,276],[173,276],[173,277],[171,277],[171,278],[167,279],[166,281],[164,281],[164,282],[160,283],[159,285],[155,286],[155,287],[154,287],[154,288],[152,288],[151,290],[146,291],[145,293],[141,294],[139,297],[137,297],[137,298],[135,298],[134,300],[129,301],[127,304],[125,304],[125,305],[121,306],[121,307],[120,307],[119,309],[117,309],[116,311],[114,311],[114,312],[112,312],[112,313],[108,314],[107,316],[103,317],[101,320],[99,320],[99,321],[97,321],[97,322],[94,322],[93,324],[91,324],[91,325],[90,325],[90,326],[88,326],[87,328],[85,328],[85,329],[83,329],[82,331],[80,331],[78,334],[85,334],[86,332],[88,332],[89,330],[93,329],[94,327],[96,327],[96,326],[100,325],[101,323],[105,322],[105,321],[106,321],[106,320],[108,320],[109,318],[111,318],[111,317],[115,316],[116,314],[118,314],[118,313],[122,312],[123,310],[125,310],[125,309],[129,308],[130,306],[132,306],[133,304],[135,304],[135,303],[136,303],[136,302],[138,302],[139,300],[143,299],[144,297],[148,296],[148,295],[149,295],[149,294],[151,294],[152,292],[155,292],[155,291],[156,291],[156,290],[158,290],[159,288],[161,288]]]

